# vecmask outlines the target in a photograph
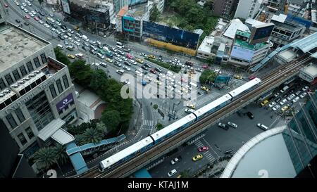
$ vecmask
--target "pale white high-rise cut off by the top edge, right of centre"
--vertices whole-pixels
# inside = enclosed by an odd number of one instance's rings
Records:
[[[235,11],[235,18],[254,18],[259,12],[262,0],[240,0]]]

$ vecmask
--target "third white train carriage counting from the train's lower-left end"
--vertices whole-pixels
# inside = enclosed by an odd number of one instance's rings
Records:
[[[205,105],[199,110],[196,110],[194,113],[197,115],[197,119],[200,120],[201,117],[209,115],[210,113],[215,112],[216,110],[223,108],[227,103],[231,101],[231,96],[229,94],[225,94],[224,96],[220,96],[215,101],[212,101],[208,105]]]

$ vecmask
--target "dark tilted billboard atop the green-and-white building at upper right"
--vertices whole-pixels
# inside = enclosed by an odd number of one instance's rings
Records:
[[[251,35],[249,37],[249,43],[256,44],[268,41],[268,37],[270,37],[274,26],[274,23],[266,23],[263,25],[256,25],[252,27]]]

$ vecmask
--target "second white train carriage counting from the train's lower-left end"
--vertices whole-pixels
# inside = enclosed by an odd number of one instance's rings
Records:
[[[188,127],[188,125],[192,124],[194,121],[196,121],[196,116],[194,114],[189,114],[185,117],[182,117],[182,119],[178,120],[177,122],[173,122],[172,124],[168,125],[168,127],[159,130],[159,132],[151,134],[151,136],[153,137],[155,143],[159,143],[166,137],[179,132],[185,127]]]

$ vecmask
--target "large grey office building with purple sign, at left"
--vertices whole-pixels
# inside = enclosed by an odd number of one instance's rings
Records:
[[[0,124],[19,153],[73,141],[63,127],[77,120],[75,87],[52,44],[11,23],[0,24],[0,44]]]

